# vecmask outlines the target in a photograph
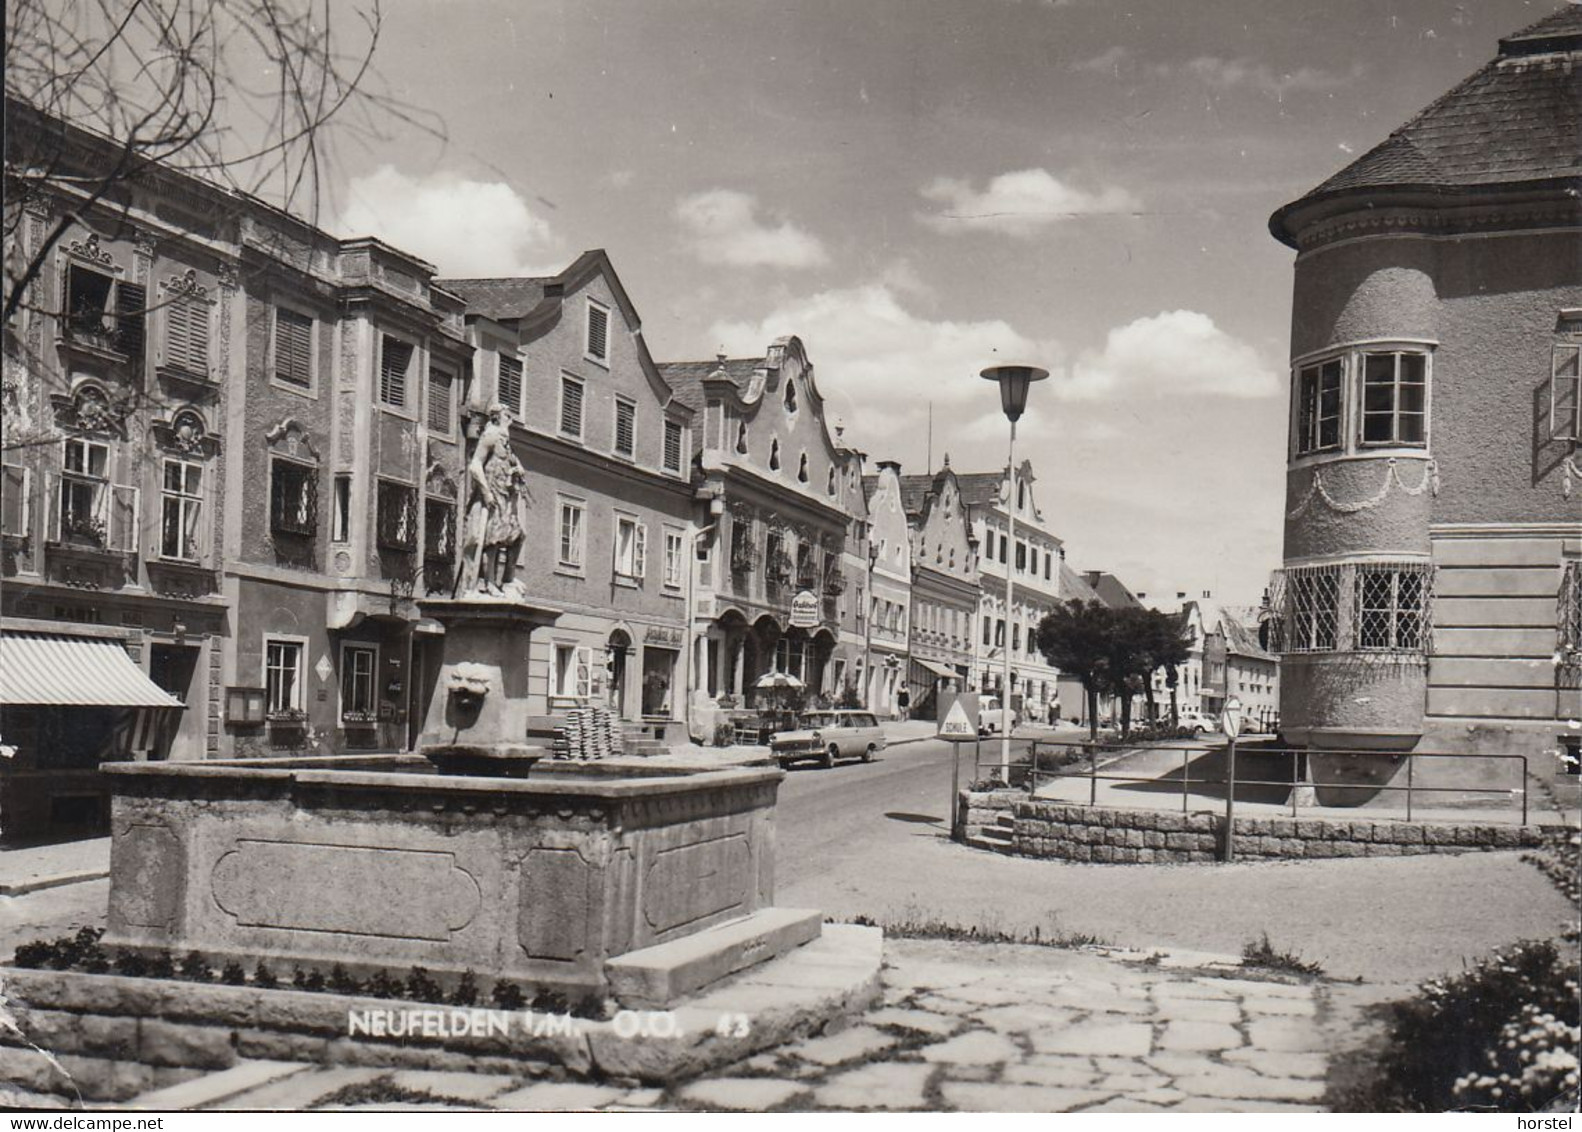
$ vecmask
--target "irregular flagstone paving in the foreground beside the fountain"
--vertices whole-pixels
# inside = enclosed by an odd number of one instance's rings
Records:
[[[1324,983],[1207,957],[1142,963],[1046,947],[886,941],[883,1002],[853,1024],[658,1088],[310,1069],[226,1108],[1316,1111]],[[1324,1023],[1329,1023],[1327,1026]],[[389,1086],[372,1096],[346,1086]]]

